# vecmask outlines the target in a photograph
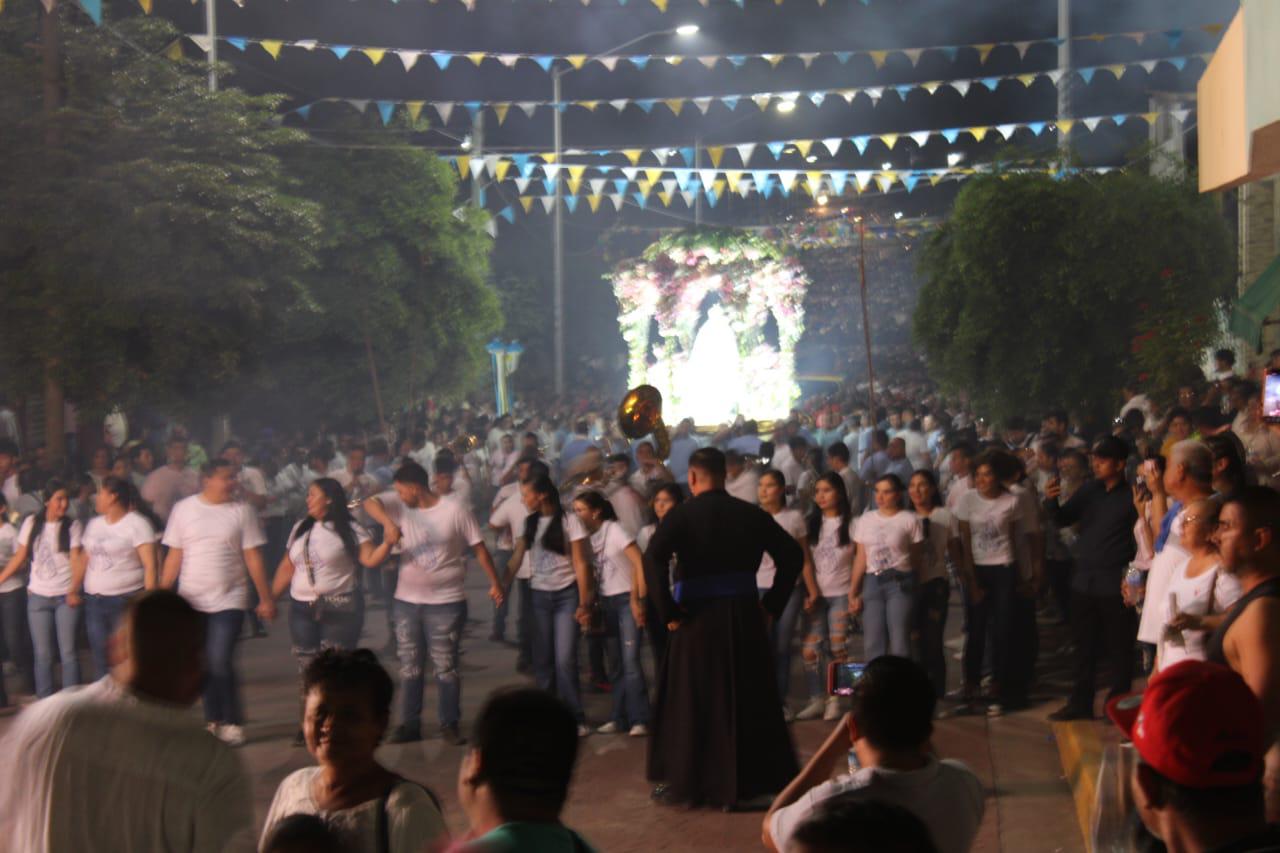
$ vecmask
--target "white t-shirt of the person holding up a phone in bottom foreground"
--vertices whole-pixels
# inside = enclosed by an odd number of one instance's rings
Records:
[[[959,761],[929,758],[924,767],[910,771],[863,767],[774,812],[769,822],[774,847],[787,849],[796,827],[835,797],[901,806],[928,827],[938,853],[969,853],[984,807],[982,781]]]

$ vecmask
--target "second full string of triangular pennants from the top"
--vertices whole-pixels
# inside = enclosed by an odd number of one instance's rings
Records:
[[[1073,68],[1068,73],[1073,77],[1080,79],[1085,85],[1091,83],[1098,72],[1105,72],[1112,74],[1116,79],[1121,79],[1130,70],[1143,69],[1147,73],[1153,72],[1160,64],[1167,64],[1176,70],[1183,70],[1187,68],[1187,63],[1192,59],[1207,60],[1211,54],[1190,54],[1187,56],[1165,56],[1161,59],[1144,59],[1134,60],[1129,63],[1112,63],[1108,65],[1087,65],[1080,68]],[[961,96],[966,95],[973,88],[986,88],[988,91],[995,91],[1001,83],[1014,82],[1024,87],[1033,86],[1039,79],[1048,79],[1055,86],[1057,86],[1064,77],[1061,69],[1048,69],[1038,72],[1028,72],[1025,74],[1000,74],[995,77],[974,77],[969,79],[938,79],[938,81],[925,81],[920,83],[900,83],[892,86],[860,86],[854,88],[823,88],[812,90],[808,92],[745,92],[739,95],[707,95],[707,96],[692,96],[692,97],[618,97],[612,100],[573,100],[573,101],[561,101],[558,109],[563,113],[568,108],[579,108],[590,113],[598,110],[613,110],[616,113],[622,113],[628,108],[639,109],[644,113],[652,113],[655,108],[664,108],[669,110],[673,115],[680,115],[686,108],[698,109],[699,113],[707,115],[708,110],[714,104],[719,104],[728,109],[730,111],[736,110],[740,105],[754,104],[760,111],[768,110],[771,105],[782,102],[796,102],[800,100],[806,100],[814,106],[822,106],[828,99],[841,97],[846,104],[852,106],[854,101],[865,97],[873,106],[879,104],[881,99],[887,95],[896,95],[897,97],[906,100],[908,95],[911,92],[927,92],[933,95],[941,90],[951,90]],[[498,124],[503,124],[507,120],[507,115],[515,109],[524,113],[526,118],[532,118],[534,113],[538,110],[545,110],[556,108],[556,101],[417,101],[417,100],[371,100],[371,99],[355,99],[355,97],[321,97],[319,100],[311,101],[310,104],[303,104],[302,106],[294,108],[291,113],[308,119],[311,117],[311,110],[316,104],[347,104],[356,110],[364,113],[369,109],[370,104],[376,106],[378,114],[383,119],[383,124],[390,122],[396,113],[396,109],[403,108],[408,117],[417,120],[422,113],[424,108],[430,108],[435,111],[436,118],[442,124],[448,124],[449,118],[460,110],[466,110],[466,113],[474,118],[480,110],[488,110],[497,119]]]

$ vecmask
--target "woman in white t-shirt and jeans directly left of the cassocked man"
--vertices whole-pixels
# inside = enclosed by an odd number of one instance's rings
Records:
[[[605,649],[613,679],[613,716],[596,731],[632,738],[649,734],[649,688],[640,666],[640,628],[648,598],[640,548],[618,524],[618,514],[599,492],[573,498],[573,512],[591,535],[595,579],[604,606]]]

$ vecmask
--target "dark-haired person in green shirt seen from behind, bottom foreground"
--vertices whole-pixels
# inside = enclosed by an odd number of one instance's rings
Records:
[[[561,822],[577,762],[577,720],[556,695],[499,690],[476,717],[458,767],[470,830],[457,853],[594,853]]]

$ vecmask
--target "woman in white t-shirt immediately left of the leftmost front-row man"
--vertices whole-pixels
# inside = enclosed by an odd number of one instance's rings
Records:
[[[156,540],[161,530],[127,478],[104,478],[93,505],[97,515],[84,525],[86,560],[82,573],[72,576],[72,596],[79,598],[83,590],[93,676],[102,678],[108,640],[129,599],[160,583]]]

